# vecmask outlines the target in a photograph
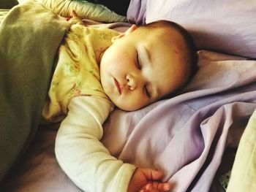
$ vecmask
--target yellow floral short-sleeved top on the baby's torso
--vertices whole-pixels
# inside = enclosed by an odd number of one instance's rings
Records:
[[[75,96],[108,99],[99,77],[100,55],[111,44],[117,31],[72,25],[59,47],[56,69],[42,117],[50,122],[63,120],[67,106]]]

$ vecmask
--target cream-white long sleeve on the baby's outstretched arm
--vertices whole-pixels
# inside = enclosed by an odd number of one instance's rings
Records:
[[[99,142],[110,102],[77,96],[68,109],[56,137],[56,158],[61,168],[83,191],[127,191],[135,166],[114,158]]]

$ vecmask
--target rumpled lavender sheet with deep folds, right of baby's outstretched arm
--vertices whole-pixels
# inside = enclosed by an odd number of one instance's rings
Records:
[[[238,146],[256,108],[256,61],[200,51],[181,95],[137,112],[116,110],[103,142],[113,155],[165,171],[175,191],[210,191],[225,149]]]

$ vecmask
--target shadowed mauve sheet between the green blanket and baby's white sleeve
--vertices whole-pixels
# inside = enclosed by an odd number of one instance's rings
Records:
[[[18,166],[4,180],[3,192],[81,192],[62,172],[54,153],[59,124],[38,128],[34,141]]]

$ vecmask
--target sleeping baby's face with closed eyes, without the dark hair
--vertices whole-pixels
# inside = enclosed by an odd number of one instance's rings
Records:
[[[132,26],[102,55],[102,87],[117,107],[138,110],[187,81],[181,36],[174,30],[170,35]]]

